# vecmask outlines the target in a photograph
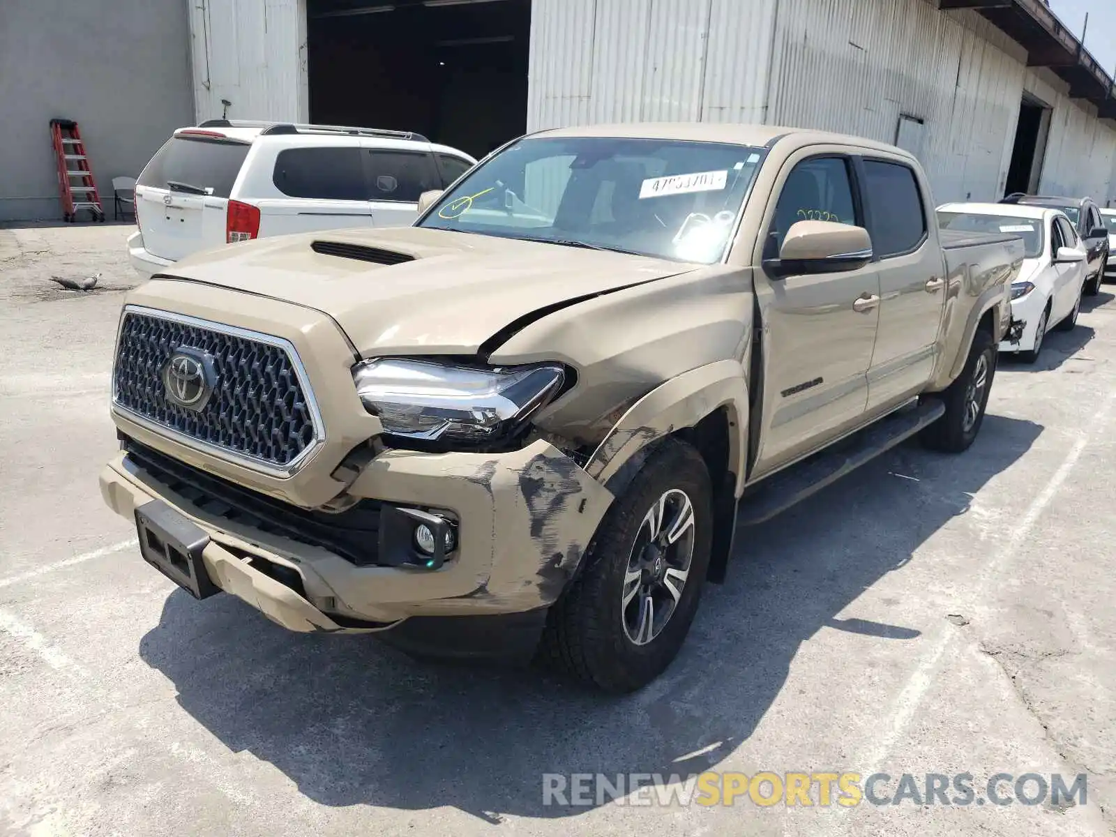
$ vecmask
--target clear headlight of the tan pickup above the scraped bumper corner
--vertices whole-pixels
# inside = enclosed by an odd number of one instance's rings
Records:
[[[357,395],[387,433],[468,442],[519,430],[565,377],[556,364],[484,367],[388,357],[353,367]]]

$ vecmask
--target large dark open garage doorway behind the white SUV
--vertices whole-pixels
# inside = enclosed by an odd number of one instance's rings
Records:
[[[527,128],[530,0],[308,0],[310,121],[480,157]]]

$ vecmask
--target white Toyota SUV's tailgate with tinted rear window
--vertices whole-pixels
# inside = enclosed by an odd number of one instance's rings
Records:
[[[250,143],[180,131],[144,166],[136,208],[144,248],[177,261],[225,242],[225,208]]]

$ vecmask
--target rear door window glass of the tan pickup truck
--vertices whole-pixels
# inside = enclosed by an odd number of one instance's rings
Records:
[[[922,195],[910,167],[865,160],[864,191],[872,217],[872,247],[878,258],[912,252],[925,240]]]

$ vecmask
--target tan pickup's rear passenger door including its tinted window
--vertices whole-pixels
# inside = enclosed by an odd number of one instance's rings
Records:
[[[933,375],[945,308],[945,266],[930,237],[918,179],[897,160],[862,160],[863,193],[879,270],[879,331],[868,410],[917,394]]]

